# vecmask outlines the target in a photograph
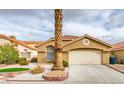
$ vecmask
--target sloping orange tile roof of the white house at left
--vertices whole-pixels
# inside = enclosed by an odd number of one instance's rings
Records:
[[[10,38],[10,37],[8,37],[8,36],[6,36],[6,35],[0,34],[0,38],[5,39],[5,40],[9,40],[10,42],[13,42],[13,43],[15,43],[15,44],[19,44],[19,45],[25,46],[25,47],[27,47],[27,48],[29,48],[29,49],[36,50],[36,51],[37,51],[36,48],[33,48],[33,47],[31,47],[31,46],[28,46],[27,44],[25,44],[25,43],[23,43],[23,42],[21,42],[21,41],[19,41],[19,40]]]

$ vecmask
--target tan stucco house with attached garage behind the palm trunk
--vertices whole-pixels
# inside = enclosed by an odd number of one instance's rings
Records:
[[[38,62],[54,62],[54,38],[37,46]],[[70,64],[109,64],[111,45],[89,35],[62,37],[63,60]]]

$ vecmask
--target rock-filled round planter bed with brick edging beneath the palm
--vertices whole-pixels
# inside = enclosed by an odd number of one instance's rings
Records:
[[[67,73],[60,70],[50,71],[43,75],[44,80],[47,81],[63,81],[68,77]]]

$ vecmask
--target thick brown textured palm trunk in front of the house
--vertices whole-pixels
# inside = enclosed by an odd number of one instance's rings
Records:
[[[62,9],[55,9],[55,62],[53,70],[64,70],[62,63]]]

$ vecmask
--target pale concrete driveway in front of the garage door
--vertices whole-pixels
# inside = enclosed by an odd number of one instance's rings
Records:
[[[124,74],[105,65],[70,65],[66,83],[124,83]]]

